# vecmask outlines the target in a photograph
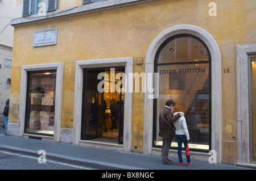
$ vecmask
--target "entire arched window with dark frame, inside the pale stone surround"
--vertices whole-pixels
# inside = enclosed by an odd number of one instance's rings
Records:
[[[189,131],[189,147],[210,150],[211,72],[210,53],[203,41],[188,34],[172,36],[155,56],[154,72],[159,73],[159,96],[154,99],[153,146],[162,146],[159,113],[166,100],[184,108]],[[174,138],[171,149],[177,149]]]

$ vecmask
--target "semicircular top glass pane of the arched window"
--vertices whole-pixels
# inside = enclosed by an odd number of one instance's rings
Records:
[[[205,46],[191,36],[180,36],[167,41],[160,49],[158,64],[209,61]]]

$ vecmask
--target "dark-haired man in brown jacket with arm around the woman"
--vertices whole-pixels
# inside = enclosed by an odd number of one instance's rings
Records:
[[[169,149],[172,143],[172,139],[175,135],[174,123],[177,121],[182,114],[177,114],[176,116],[172,115],[172,107],[175,106],[175,102],[173,100],[167,100],[166,107],[159,114],[159,133],[163,136],[163,144],[162,144],[162,163],[172,165],[172,161],[168,159]],[[167,123],[166,123],[167,122]],[[171,127],[172,125],[172,127]]]

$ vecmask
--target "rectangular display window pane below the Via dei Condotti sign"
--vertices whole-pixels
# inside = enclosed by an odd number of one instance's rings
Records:
[[[56,70],[28,73],[25,132],[54,133]]]

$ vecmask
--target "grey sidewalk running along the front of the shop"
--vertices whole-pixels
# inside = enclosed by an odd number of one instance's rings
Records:
[[[161,162],[162,157],[155,155],[125,153],[123,151],[76,146],[32,138],[19,138],[3,134],[0,134],[0,150],[34,155],[35,157],[39,157],[39,150],[45,150],[46,162],[47,159],[53,159],[106,170],[249,170],[245,167],[217,165],[200,161],[192,161],[193,165],[191,167],[187,165],[179,167],[177,158],[171,158],[174,165],[163,165]]]

